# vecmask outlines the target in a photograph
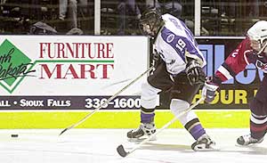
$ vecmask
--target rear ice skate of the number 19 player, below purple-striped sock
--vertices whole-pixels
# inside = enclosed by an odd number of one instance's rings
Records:
[[[218,151],[214,141],[207,134],[200,136],[197,142],[191,145],[191,148],[194,151]]]

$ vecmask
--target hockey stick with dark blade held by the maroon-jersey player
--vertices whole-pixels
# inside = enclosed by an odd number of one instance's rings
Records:
[[[131,149],[130,151],[125,151],[125,148],[122,144],[117,146],[117,152],[121,157],[126,157],[129,154],[133,153],[135,150],[139,149],[142,144],[144,143],[148,143],[153,137],[155,137],[157,134],[161,133],[163,130],[165,130],[168,126],[172,125],[179,117],[181,117],[182,115],[184,115],[185,113],[187,113],[188,111],[192,110],[193,108],[195,108],[200,102],[203,102],[205,100],[205,97],[201,97],[197,102],[195,102],[194,104],[190,105],[190,108],[188,108],[187,110],[183,110],[179,115],[175,116],[171,121],[169,121],[168,123],[166,123],[165,126],[162,126],[156,133],[154,134],[150,134],[148,138],[144,139],[141,143],[138,143],[133,149]]]

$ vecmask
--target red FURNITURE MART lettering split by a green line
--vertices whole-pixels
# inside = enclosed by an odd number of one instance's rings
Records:
[[[40,78],[107,79],[114,69],[113,43],[40,43]]]

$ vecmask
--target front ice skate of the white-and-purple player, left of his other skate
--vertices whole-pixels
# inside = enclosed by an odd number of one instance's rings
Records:
[[[131,130],[127,133],[127,138],[129,142],[140,142],[147,138],[148,135],[154,134],[156,132],[156,126],[153,122],[142,123],[136,130]],[[155,141],[156,137],[152,137],[151,141]]]

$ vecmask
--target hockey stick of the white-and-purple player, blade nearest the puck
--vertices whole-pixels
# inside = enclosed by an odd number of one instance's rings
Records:
[[[144,76],[145,74],[147,74],[148,72],[150,72],[151,69],[153,69],[154,67],[151,66],[150,69],[147,69],[146,71],[144,71],[139,77],[136,77],[131,83],[129,83],[127,86],[123,87],[121,90],[119,90],[116,94],[112,95],[111,97],[109,97],[109,99],[106,102],[103,102],[98,108],[94,109],[92,112],[90,112],[89,114],[87,114],[85,116],[85,118],[82,118],[81,120],[79,120],[76,124],[73,124],[67,128],[65,128],[63,131],[61,131],[61,134],[65,133],[67,130],[74,128],[78,125],[80,125],[81,123],[83,123],[87,118],[90,118],[93,113],[95,113],[97,110],[100,110],[104,105],[108,104],[109,102],[111,102],[113,99],[115,99],[117,97],[118,94],[121,94],[123,91],[125,91],[126,88],[128,88],[129,86],[132,86],[138,79],[140,79],[142,76]],[[59,134],[59,135],[61,135]]]

